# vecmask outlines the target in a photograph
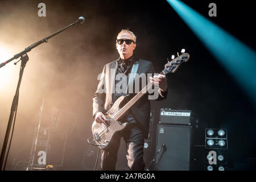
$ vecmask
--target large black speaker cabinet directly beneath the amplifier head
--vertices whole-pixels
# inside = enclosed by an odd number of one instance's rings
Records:
[[[160,125],[156,130],[155,169],[158,171],[189,171],[191,126]]]

